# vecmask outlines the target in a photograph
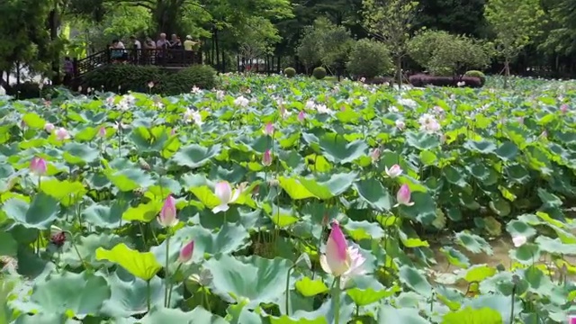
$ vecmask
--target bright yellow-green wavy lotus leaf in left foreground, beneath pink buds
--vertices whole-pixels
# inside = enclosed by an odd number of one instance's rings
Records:
[[[96,249],[96,260],[107,260],[122,266],[130,274],[142,280],[152,279],[162,268],[151,252],[139,252],[121,243],[108,250],[103,247]]]

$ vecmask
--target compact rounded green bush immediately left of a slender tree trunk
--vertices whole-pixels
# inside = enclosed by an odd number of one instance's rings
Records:
[[[382,76],[392,69],[390,52],[382,42],[358,40],[350,52],[347,70],[360,77]]]

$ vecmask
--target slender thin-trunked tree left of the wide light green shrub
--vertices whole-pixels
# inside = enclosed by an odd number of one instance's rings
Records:
[[[402,58],[418,2],[411,0],[364,0],[365,26],[390,49],[396,64],[396,80],[402,84]],[[399,86],[400,88],[400,86]]]

